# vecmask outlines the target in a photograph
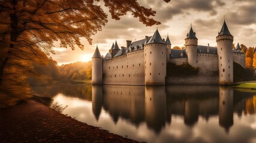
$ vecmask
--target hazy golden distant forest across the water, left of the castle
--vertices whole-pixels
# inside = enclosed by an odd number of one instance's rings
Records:
[[[34,63],[34,70],[37,74],[28,78],[30,85],[53,85],[57,81],[70,82],[72,80],[92,79],[92,61],[79,61],[58,66],[55,60],[49,58],[47,64]]]

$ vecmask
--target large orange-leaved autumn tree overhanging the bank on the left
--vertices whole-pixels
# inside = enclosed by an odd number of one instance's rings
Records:
[[[169,2],[170,0],[164,0]],[[83,49],[81,38],[92,43],[91,36],[107,23],[107,14],[99,0],[1,0],[0,1],[0,85],[26,79],[32,72],[31,61],[46,64],[42,53],[54,54],[53,42],[61,47]],[[101,1],[111,17],[119,20],[131,13],[146,26],[160,24],[151,16],[155,11],[136,0]],[[22,71],[19,71],[22,69]],[[23,79],[17,79],[17,74]],[[34,73],[33,73],[34,74]],[[22,85],[23,83],[20,83]],[[2,91],[2,90],[1,90]]]

